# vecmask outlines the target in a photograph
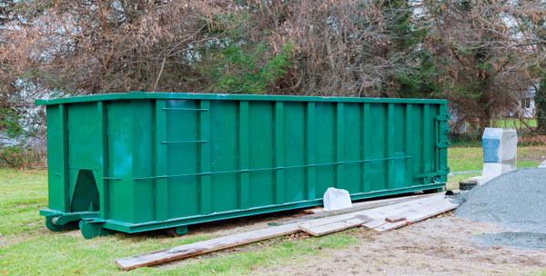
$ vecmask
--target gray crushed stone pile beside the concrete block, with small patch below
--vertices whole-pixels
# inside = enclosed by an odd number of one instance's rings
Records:
[[[480,235],[479,240],[486,246],[494,243],[496,246],[513,244],[521,248],[546,248],[546,241],[541,236],[546,233],[546,169],[521,168],[504,173],[453,198],[451,202],[461,204],[454,211],[456,216],[475,222],[497,222],[503,227],[526,231]]]

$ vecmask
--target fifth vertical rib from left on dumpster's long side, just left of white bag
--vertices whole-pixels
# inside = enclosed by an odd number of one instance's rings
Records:
[[[313,165],[315,164],[315,141],[317,139],[315,135],[315,132],[316,132],[315,103],[308,102],[306,117],[307,117],[306,118],[307,125],[305,128],[305,131],[306,131],[305,133],[305,141],[306,141],[305,142],[306,143],[305,144],[305,149],[306,149],[305,164]],[[309,201],[312,201],[316,199],[317,197],[317,192],[315,190],[317,187],[315,172],[316,170],[314,166],[309,166],[305,170],[305,175],[306,175],[305,184],[306,184],[306,194],[307,194],[306,199]]]

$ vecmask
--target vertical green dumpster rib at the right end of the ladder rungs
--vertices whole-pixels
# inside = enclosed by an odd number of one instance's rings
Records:
[[[201,101],[201,109],[208,112],[199,113],[199,140],[210,141],[210,102]],[[199,173],[210,173],[210,143],[200,143]],[[199,213],[212,212],[210,174],[199,176]]]

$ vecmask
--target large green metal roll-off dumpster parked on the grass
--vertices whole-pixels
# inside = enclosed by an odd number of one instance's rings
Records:
[[[46,105],[51,231],[86,238],[445,186],[447,102],[101,94]]]

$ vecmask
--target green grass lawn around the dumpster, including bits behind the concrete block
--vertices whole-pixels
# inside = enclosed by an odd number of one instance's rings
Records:
[[[451,172],[481,170],[480,148],[449,149]],[[546,147],[521,147],[519,166],[537,166],[546,155]],[[479,173],[450,176],[450,185]],[[0,271],[2,275],[121,273],[114,260],[147,251],[214,238],[192,232],[180,238],[167,238],[158,232],[113,236],[86,240],[78,231],[49,232],[38,209],[47,207],[45,171],[0,169]],[[252,274],[258,268],[294,264],[324,254],[320,248],[343,248],[358,243],[360,229],[309,239],[280,237],[229,250],[190,258],[183,265],[139,268],[124,274]],[[191,261],[193,260],[193,261]]]

